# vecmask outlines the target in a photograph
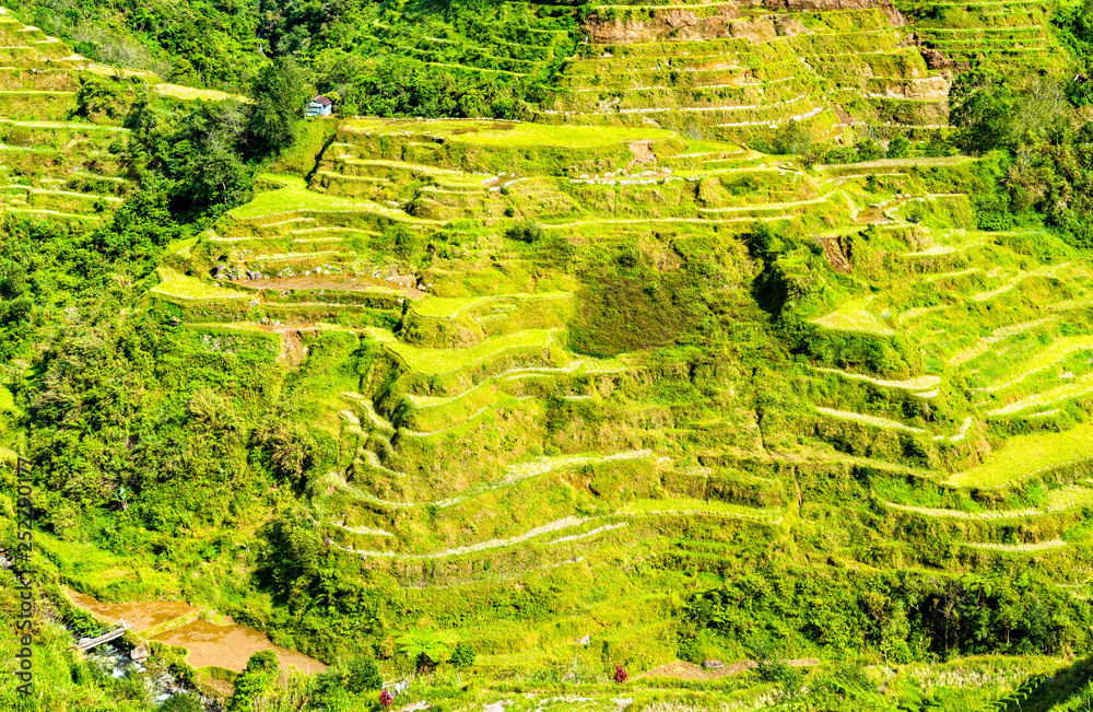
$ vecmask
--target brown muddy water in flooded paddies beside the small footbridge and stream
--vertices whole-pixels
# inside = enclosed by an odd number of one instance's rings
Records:
[[[72,603],[104,620],[117,623],[125,618],[134,633],[154,628],[198,609],[187,603],[175,600],[152,600],[148,603],[104,604],[77,591],[67,591]],[[247,660],[262,650],[277,653],[281,669],[295,667],[301,673],[321,673],[327,666],[303,653],[274,645],[266,633],[230,623],[214,626],[205,620],[196,620],[152,638],[168,645],[181,645],[189,651],[186,662],[193,667],[216,665],[242,673]]]

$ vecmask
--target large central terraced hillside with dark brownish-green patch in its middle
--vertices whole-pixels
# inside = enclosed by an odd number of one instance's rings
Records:
[[[669,663],[673,596],[768,547],[1084,596],[1093,273],[1044,231],[976,230],[977,160],[359,119],[313,173],[270,176],[152,295],[313,374],[319,529],[491,675],[585,633]]]

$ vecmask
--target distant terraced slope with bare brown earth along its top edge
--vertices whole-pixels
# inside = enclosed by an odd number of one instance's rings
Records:
[[[901,9],[902,5],[900,5]],[[601,4],[541,118],[755,137],[796,120],[816,139],[947,124],[954,73],[1065,69],[1034,3]]]

